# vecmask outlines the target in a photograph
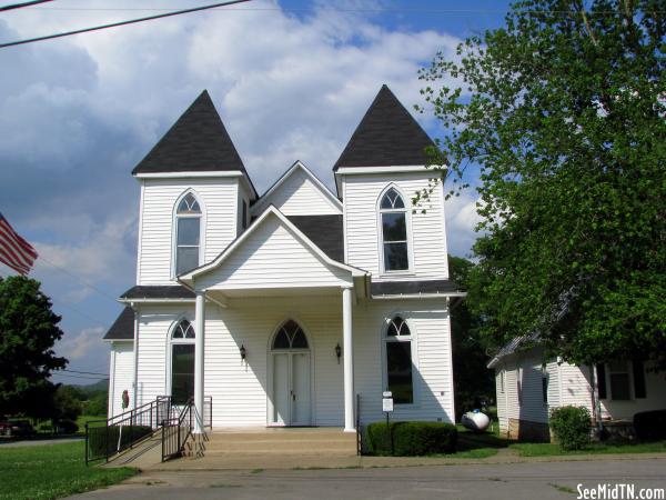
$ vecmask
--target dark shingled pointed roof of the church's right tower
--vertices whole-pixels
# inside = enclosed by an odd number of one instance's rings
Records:
[[[333,170],[340,167],[425,164],[424,150],[428,146],[434,146],[432,139],[384,84]]]

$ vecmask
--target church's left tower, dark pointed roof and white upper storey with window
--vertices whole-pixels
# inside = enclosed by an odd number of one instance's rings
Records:
[[[141,184],[138,284],[173,284],[213,260],[249,224],[256,199],[205,90],[132,176]]]

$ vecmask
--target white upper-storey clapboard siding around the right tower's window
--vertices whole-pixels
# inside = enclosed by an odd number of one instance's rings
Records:
[[[446,230],[444,226],[443,190],[437,186],[430,201],[420,206],[411,220],[411,252],[413,269],[403,276],[382,276],[380,272],[379,198],[387,186],[396,186],[405,207],[412,208],[414,193],[428,184],[428,172],[344,176],[343,200],[345,216],[346,262],[365,269],[373,280],[446,279]],[[426,212],[422,213],[421,210]]]

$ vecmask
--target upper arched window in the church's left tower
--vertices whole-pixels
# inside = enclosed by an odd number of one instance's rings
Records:
[[[175,211],[175,274],[199,266],[201,208],[192,193],[178,204]]]

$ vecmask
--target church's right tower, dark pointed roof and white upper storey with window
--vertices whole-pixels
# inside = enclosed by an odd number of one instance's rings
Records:
[[[444,191],[427,202],[412,198],[428,187],[432,139],[383,86],[335,163],[344,206],[345,262],[373,281],[448,278]]]

